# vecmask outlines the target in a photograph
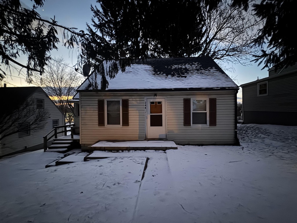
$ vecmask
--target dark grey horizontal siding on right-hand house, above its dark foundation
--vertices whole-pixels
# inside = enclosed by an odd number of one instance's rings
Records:
[[[257,96],[257,83],[242,87],[244,111],[296,112],[296,73],[268,79],[268,95]]]

